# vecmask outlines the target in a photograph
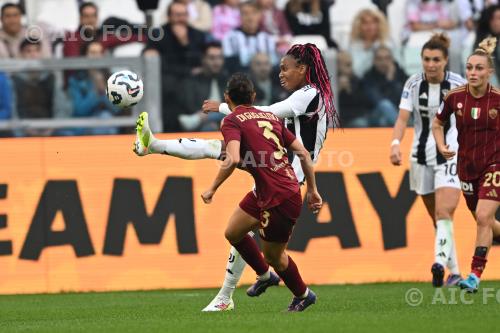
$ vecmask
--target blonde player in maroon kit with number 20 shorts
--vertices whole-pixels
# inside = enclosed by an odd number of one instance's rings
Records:
[[[496,38],[486,38],[469,56],[467,84],[448,93],[432,125],[437,148],[445,158],[452,159],[455,152],[444,141],[443,127],[455,114],[458,176],[467,207],[477,222],[471,273],[458,284],[468,292],[477,292],[488,250],[493,238],[500,236],[500,223],[495,219],[500,205],[500,90],[489,83],[494,73],[491,54],[495,46]]]

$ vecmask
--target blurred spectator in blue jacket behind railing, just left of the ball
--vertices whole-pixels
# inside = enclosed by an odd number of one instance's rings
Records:
[[[99,41],[84,44],[81,56],[102,58],[104,46]],[[107,70],[91,69],[78,71],[69,78],[68,92],[73,101],[73,117],[111,118],[118,110],[109,102],[106,96]],[[117,128],[72,129],[71,135],[83,134],[117,134]],[[69,134],[69,133],[64,133]]]

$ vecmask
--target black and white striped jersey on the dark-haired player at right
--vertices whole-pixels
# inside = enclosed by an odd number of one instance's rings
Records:
[[[437,151],[432,135],[432,120],[439,110],[444,96],[466,80],[453,72],[446,72],[443,82],[430,83],[424,73],[412,75],[405,83],[399,108],[413,113],[415,134],[410,153],[410,160],[422,165],[437,165],[446,162]],[[458,149],[455,116],[445,127],[446,143],[452,150]]]

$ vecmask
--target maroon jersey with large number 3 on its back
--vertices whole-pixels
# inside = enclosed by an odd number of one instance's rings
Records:
[[[295,136],[278,117],[238,106],[224,118],[221,131],[226,145],[232,140],[240,142],[241,163],[255,180],[261,209],[275,207],[300,191],[285,150]]]

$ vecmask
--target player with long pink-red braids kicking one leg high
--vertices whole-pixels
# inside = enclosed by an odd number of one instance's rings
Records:
[[[281,59],[280,83],[292,94],[285,100],[270,106],[255,106],[255,108],[271,112],[278,118],[285,119],[287,128],[304,144],[315,162],[326,139],[327,128],[339,126],[339,116],[333,102],[333,93],[328,70],[320,50],[314,44],[294,45]],[[226,103],[205,101],[205,112],[221,112],[229,114]],[[220,140],[178,139],[157,140],[151,133],[147,114],[142,113],[137,120],[137,137],[134,151],[137,155],[166,154],[183,159],[221,158],[225,150],[224,142]],[[304,173],[300,160],[293,154],[289,156],[290,163],[299,182],[304,181]],[[232,247],[226,266],[224,284],[217,296],[203,311],[232,310],[233,292],[238,284],[245,261],[238,251]],[[277,285],[279,277],[274,273],[260,277],[256,285],[249,288],[249,296],[259,296],[267,287]],[[262,280],[262,281],[261,281]]]

